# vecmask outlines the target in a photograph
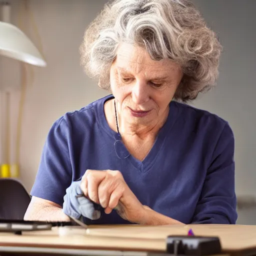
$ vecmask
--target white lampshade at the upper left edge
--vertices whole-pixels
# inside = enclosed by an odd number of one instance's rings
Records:
[[[0,21],[0,54],[32,65],[46,62],[31,40],[16,26]]]

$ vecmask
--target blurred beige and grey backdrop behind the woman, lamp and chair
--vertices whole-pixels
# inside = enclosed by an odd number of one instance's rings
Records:
[[[27,191],[52,123],[108,94],[84,74],[78,53],[84,29],[106,2],[8,0],[9,22],[30,38],[47,63],[37,67],[0,55],[0,163],[10,166],[2,176],[20,180]],[[216,87],[192,104],[229,122],[235,135],[237,223],[256,224],[256,1],[193,2],[218,33],[223,53]]]

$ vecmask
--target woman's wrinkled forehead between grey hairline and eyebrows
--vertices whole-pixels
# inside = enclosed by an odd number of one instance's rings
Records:
[[[180,65],[170,59],[153,60],[145,48],[122,43],[117,49],[116,67],[133,74],[180,71]]]

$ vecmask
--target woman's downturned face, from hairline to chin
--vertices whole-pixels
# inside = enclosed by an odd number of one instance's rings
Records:
[[[165,118],[181,78],[177,63],[152,60],[146,49],[121,44],[110,69],[111,91],[121,118],[143,125]]]

